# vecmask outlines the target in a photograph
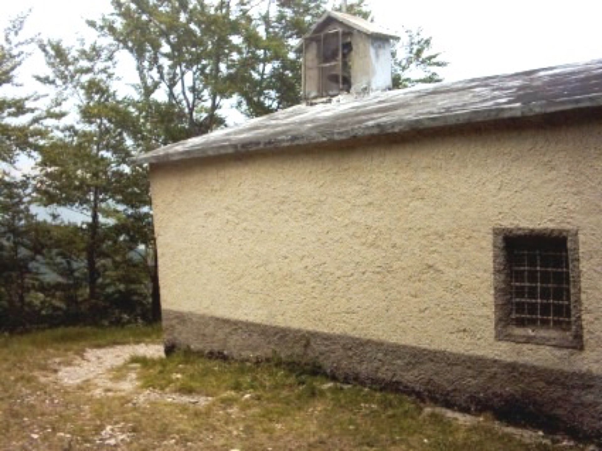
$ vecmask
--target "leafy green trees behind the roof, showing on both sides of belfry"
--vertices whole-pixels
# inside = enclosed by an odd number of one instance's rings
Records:
[[[113,13],[88,22],[134,58],[139,100],[154,147],[224,125],[225,101],[258,117],[299,104],[296,44],[326,11],[327,0],[113,0]],[[336,8],[340,10],[340,7]],[[365,0],[349,14],[370,17]],[[438,81],[446,63],[431,40],[409,31],[394,50],[394,87]]]

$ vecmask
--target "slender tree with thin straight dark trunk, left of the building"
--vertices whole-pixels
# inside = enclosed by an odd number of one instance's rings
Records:
[[[57,89],[72,124],[57,126],[40,151],[36,191],[43,205],[68,208],[86,219],[87,302],[101,307],[99,281],[107,262],[104,217],[119,210],[132,157],[125,130],[131,118],[114,88],[114,47],[97,43],[72,49],[60,41],[40,44],[51,70],[37,77]]]

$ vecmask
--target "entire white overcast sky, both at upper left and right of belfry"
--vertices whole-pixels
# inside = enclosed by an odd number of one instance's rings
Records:
[[[422,26],[450,62],[441,70],[450,81],[602,58],[600,0],[368,2],[374,19],[392,30]],[[0,0],[0,26],[28,8],[26,34],[66,41],[92,38],[84,19],[111,10],[110,0]],[[41,64],[34,58],[26,71]]]

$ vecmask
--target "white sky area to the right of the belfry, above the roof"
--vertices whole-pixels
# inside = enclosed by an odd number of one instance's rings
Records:
[[[600,0],[373,0],[373,11],[389,27],[422,26],[450,81],[602,58]]]

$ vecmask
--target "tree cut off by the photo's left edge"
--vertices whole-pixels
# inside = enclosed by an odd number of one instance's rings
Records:
[[[34,38],[22,40],[26,20],[11,20],[0,41],[0,326],[19,327],[36,283],[33,262],[39,253],[37,221],[31,213],[31,190],[15,164],[43,136],[38,127],[36,94],[17,94],[17,73]]]

